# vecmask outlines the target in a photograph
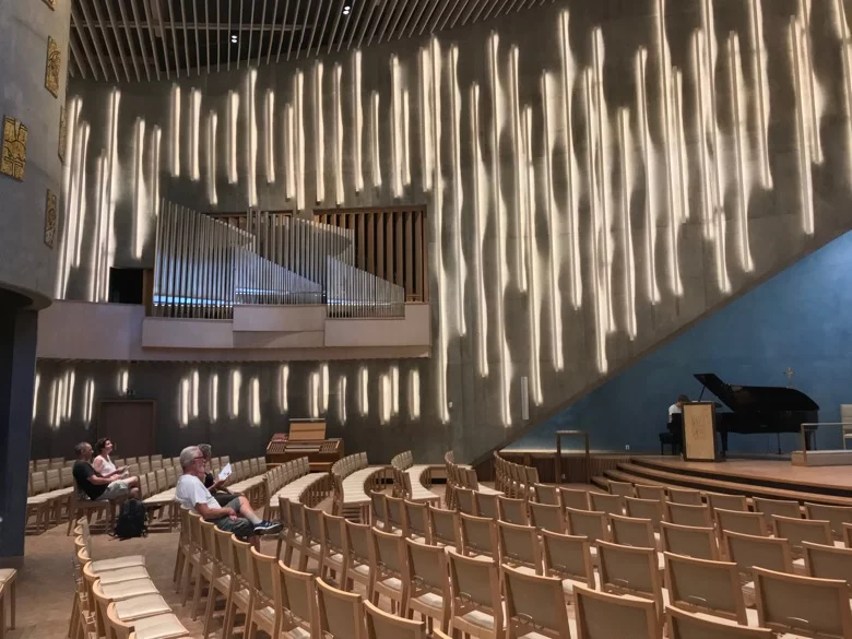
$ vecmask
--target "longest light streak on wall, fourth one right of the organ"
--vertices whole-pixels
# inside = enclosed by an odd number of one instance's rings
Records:
[[[511,407],[509,405],[509,383],[511,371],[509,369],[508,344],[506,343],[506,324],[504,319],[505,299],[506,299],[506,274],[509,272],[506,250],[506,229],[508,228],[507,206],[502,199],[502,189],[500,185],[500,131],[506,125],[506,114],[500,88],[499,64],[497,51],[500,40],[496,32],[492,32],[488,37],[488,75],[492,93],[492,202],[494,203],[494,240],[497,245],[495,268],[497,270],[497,299],[494,305],[495,330],[499,344],[498,354],[498,376],[500,384],[500,422],[504,426],[511,425]],[[419,378],[417,378],[419,381]]]

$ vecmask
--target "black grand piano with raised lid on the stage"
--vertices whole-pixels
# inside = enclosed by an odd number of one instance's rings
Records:
[[[717,431],[722,439],[722,454],[727,453],[729,433],[800,433],[802,424],[819,421],[817,403],[794,388],[733,386],[725,383],[713,372],[696,372],[695,378],[701,382],[701,397],[705,390],[708,390],[731,410],[730,413],[715,414]]]

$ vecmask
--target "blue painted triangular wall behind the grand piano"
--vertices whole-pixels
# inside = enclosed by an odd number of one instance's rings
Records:
[[[597,450],[660,450],[667,407],[679,393],[697,399],[694,372],[715,372],[731,384],[793,386],[819,404],[820,422],[839,422],[852,403],[852,232],[800,260],[711,315],[596,391],[516,441],[511,448],[552,448],[560,429],[589,431]],[[705,393],[707,399],[708,393]],[[824,429],[818,448],[840,447],[839,429]],[[796,448],[782,435],[784,451]],[[731,435],[729,449],[776,452],[776,436]]]

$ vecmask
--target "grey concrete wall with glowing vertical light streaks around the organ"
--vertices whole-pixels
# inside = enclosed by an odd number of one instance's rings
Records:
[[[110,264],[151,265],[159,196],[303,215],[425,202],[433,358],[382,364],[419,371],[421,419],[347,438],[473,459],[849,228],[844,4],[810,5],[567,0],[319,62],[74,83],[85,188],[57,293],[95,300]],[[171,401],[191,370],[150,392]]]

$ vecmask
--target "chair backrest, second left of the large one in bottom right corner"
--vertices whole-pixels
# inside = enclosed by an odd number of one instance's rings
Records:
[[[663,593],[656,551],[619,546],[608,542],[597,544],[601,590],[616,594],[634,594],[653,600],[663,613]]]

